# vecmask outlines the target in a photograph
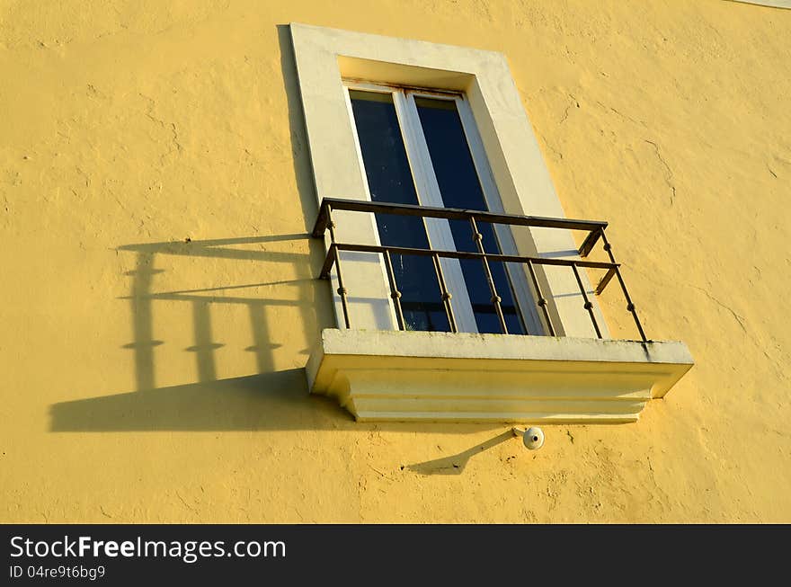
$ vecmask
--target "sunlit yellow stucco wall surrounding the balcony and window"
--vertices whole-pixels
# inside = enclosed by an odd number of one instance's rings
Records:
[[[695,357],[670,395],[537,453],[307,396],[333,315],[288,22],[502,51],[566,214],[609,220],[646,332]],[[0,521],[791,521],[789,29],[719,0],[4,3]]]

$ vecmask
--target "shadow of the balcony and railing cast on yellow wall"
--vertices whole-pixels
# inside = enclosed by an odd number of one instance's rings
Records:
[[[307,239],[307,234],[254,236],[207,241],[167,242],[125,245],[120,251],[137,254],[137,268],[127,275],[133,278],[128,299],[131,305],[134,342],[124,345],[134,351],[138,391],[129,394],[94,397],[63,402],[50,408],[51,431],[209,431],[266,430],[316,427],[316,410],[325,416],[351,421],[351,416],[324,398],[308,396],[305,369],[275,370],[271,328],[264,309],[271,306],[298,307],[303,316],[303,335],[314,338],[316,307],[307,296],[298,299],[245,297],[228,295],[277,283],[299,289],[316,288],[316,280],[288,280],[249,283],[218,288],[182,289],[152,293],[152,277],[162,270],[154,267],[157,255],[188,255],[256,262],[287,262],[305,266],[315,263],[304,253],[280,253],[231,248],[273,241]],[[316,247],[311,246],[311,253]],[[317,253],[321,253],[317,251]],[[310,254],[309,256],[315,256]],[[191,305],[194,344],[185,349],[194,353],[198,383],[174,387],[156,387],[154,348],[162,341],[154,336],[152,307],[156,301],[177,301]],[[209,308],[215,304],[241,304],[247,307],[253,333],[253,345],[245,351],[255,353],[258,374],[250,377],[217,378],[216,351],[223,345],[212,336]],[[297,325],[295,325],[297,326]],[[280,325],[280,328],[289,325]]]

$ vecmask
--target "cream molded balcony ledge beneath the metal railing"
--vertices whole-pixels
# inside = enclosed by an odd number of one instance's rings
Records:
[[[693,365],[683,342],[322,332],[312,393],[360,422],[635,422]]]

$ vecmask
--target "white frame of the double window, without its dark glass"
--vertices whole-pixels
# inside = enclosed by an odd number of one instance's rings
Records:
[[[435,100],[452,101],[456,103],[458,116],[461,120],[470,155],[473,159],[475,173],[477,174],[481,190],[484,194],[486,207],[488,211],[494,213],[505,213],[500,198],[500,192],[497,190],[497,185],[494,182],[492,170],[484,151],[483,142],[475,126],[475,119],[465,93],[388,85],[348,78],[343,79],[343,85],[346,89],[345,98],[349,111],[349,120],[354,133],[355,145],[357,147],[356,153],[358,163],[363,176],[366,176],[365,164],[363,162],[362,153],[360,152],[360,139],[357,136],[357,125],[351,110],[350,90],[387,93],[392,96],[396,109],[396,118],[398,119],[399,129],[401,130],[401,137],[404,141],[404,149],[412,171],[418,203],[421,206],[445,208],[445,203],[442,200],[440,192],[440,184],[434,172],[431,154],[429,153],[426,138],[423,135],[422,125],[414,99],[416,97],[426,97]],[[368,182],[366,182],[365,186],[365,195],[366,200],[370,201]],[[437,251],[456,250],[448,220],[444,218],[424,218],[424,221],[432,249]],[[493,230],[503,254],[518,254],[513,234],[511,233],[511,227],[493,225]],[[379,245],[378,234],[376,240],[377,245]],[[492,251],[490,251],[490,253],[491,252]],[[380,263],[384,275],[386,271],[384,261],[380,260]],[[461,271],[461,264],[458,262],[458,259],[449,258],[440,259],[440,264],[445,279],[448,282],[448,289],[453,294],[451,304],[453,306],[458,332],[477,333],[478,328],[475,323],[475,315],[473,313],[472,303],[467,295],[467,285]],[[505,269],[508,273],[511,289],[516,298],[518,311],[520,312],[527,334],[545,334],[544,325],[536,311],[536,294],[529,284],[524,267],[517,263],[505,263]],[[437,295],[440,295],[439,285]]]

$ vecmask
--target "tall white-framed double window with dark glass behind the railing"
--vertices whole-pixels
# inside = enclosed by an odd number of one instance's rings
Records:
[[[370,200],[435,208],[502,211],[502,202],[475,120],[463,93],[346,83],[351,119]],[[377,214],[381,245],[477,251],[464,220]],[[490,253],[515,253],[510,231],[481,223],[481,245]],[[391,258],[409,330],[449,332],[430,257],[394,253]],[[458,332],[501,333],[484,266],[443,258]],[[528,281],[519,265],[489,262],[510,334],[543,334]]]

